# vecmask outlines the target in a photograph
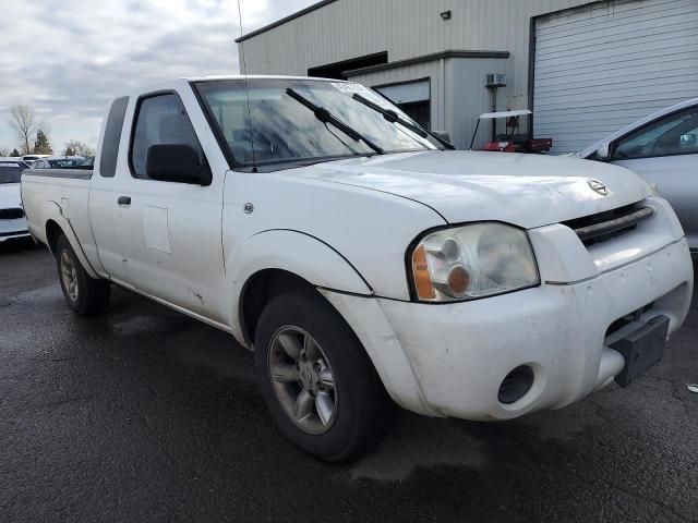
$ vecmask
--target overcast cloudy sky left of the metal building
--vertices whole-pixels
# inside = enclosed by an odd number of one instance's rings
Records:
[[[241,0],[249,33],[314,0]],[[186,75],[234,74],[237,0],[2,0],[0,148],[10,107],[35,108],[56,153],[97,143],[107,102],[124,89]]]

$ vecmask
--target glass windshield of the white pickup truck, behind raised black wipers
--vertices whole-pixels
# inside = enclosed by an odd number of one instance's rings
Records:
[[[380,112],[352,98],[359,93],[417,125],[400,109],[359,84],[250,78],[248,85],[249,107],[244,80],[196,83],[229,153],[243,166],[374,155],[376,149],[370,143],[377,146],[378,151],[385,153],[441,148],[431,136],[422,137],[402,125],[392,123]],[[341,125],[334,125],[326,118],[316,118],[313,110],[292,96],[294,93],[328,111],[366,139],[356,139],[351,132],[347,133],[349,129],[342,131]]]

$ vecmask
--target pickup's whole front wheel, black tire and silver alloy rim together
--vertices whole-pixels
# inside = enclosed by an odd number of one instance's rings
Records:
[[[279,430],[323,460],[359,458],[390,427],[395,405],[371,360],[313,291],[279,295],[264,308],[255,367]]]

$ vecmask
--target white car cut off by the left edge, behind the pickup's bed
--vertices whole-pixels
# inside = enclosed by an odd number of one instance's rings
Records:
[[[26,167],[19,159],[0,159],[0,243],[29,235],[20,195],[22,170]]]

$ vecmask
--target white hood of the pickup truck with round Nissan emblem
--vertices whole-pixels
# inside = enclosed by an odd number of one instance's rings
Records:
[[[615,166],[569,157],[480,151],[420,151],[351,158],[296,175],[420,202],[447,222],[494,220],[526,229],[634,204],[652,194]],[[607,195],[589,181],[602,182]]]

